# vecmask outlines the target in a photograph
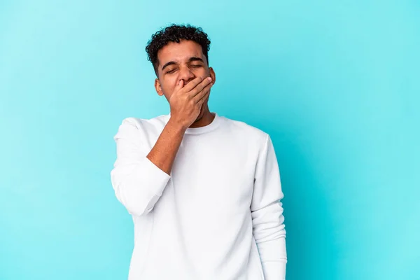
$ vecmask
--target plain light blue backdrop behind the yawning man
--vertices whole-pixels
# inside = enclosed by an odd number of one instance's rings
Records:
[[[413,0],[1,1],[0,279],[126,279],[112,137],[168,112],[144,47],[171,22],[211,38],[211,111],[272,136],[287,279],[420,279]]]

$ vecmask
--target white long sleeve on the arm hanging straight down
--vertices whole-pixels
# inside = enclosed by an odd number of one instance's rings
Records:
[[[286,278],[286,230],[283,224],[280,172],[272,141],[267,134],[255,168],[251,202],[253,235],[266,280]]]

